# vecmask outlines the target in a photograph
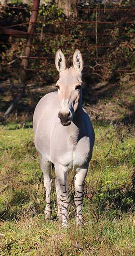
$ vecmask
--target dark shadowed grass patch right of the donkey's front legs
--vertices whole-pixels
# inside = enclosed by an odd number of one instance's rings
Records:
[[[89,186],[85,188],[85,196],[89,198],[90,203],[94,204],[96,217],[101,215],[106,217],[120,217],[123,213],[134,211],[135,205],[135,172],[132,174],[131,184],[123,184],[116,188],[109,188],[106,185],[101,186],[98,191],[89,192]],[[115,185],[117,186],[117,184]],[[114,216],[113,216],[114,214]]]

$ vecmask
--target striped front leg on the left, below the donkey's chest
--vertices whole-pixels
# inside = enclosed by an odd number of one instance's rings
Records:
[[[67,190],[67,168],[60,164],[55,165],[55,173],[60,188],[60,203],[62,209],[62,226],[67,227],[67,208],[69,203]]]

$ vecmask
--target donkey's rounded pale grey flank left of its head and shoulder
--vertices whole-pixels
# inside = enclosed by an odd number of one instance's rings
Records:
[[[58,116],[57,92],[46,94],[38,102],[33,116],[33,131],[36,150],[50,160],[49,147],[51,130]]]

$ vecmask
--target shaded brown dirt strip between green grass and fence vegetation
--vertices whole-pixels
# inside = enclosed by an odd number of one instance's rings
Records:
[[[85,79],[84,79],[85,80]],[[46,93],[55,91],[55,83],[46,85],[28,81],[25,95],[18,101],[12,113],[5,121],[31,120],[37,102]],[[4,78],[0,81],[0,119],[4,112],[21,93],[18,81]],[[126,75],[118,82],[84,81],[83,106],[91,120],[123,122],[132,124],[135,121],[135,79]]]

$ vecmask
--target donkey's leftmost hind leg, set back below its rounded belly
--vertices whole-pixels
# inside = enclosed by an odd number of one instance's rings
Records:
[[[52,178],[51,178],[51,162],[47,159],[40,157],[40,167],[44,174],[44,186],[46,191],[46,207],[45,207],[45,219],[50,219],[51,217],[51,208],[50,208],[50,193],[52,187]]]

